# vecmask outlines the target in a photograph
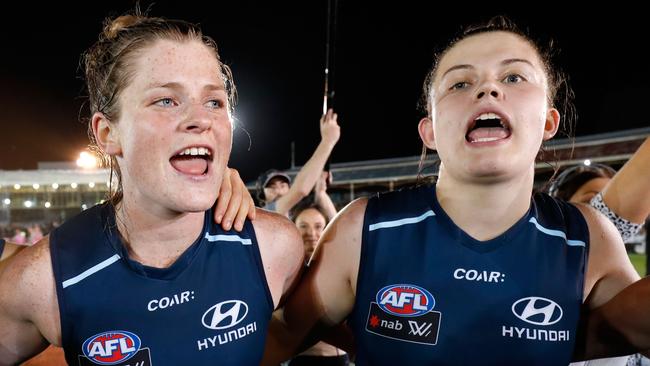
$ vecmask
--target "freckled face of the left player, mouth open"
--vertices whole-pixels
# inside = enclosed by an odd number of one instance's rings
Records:
[[[232,144],[215,54],[198,41],[159,40],[131,67],[115,124],[125,199],[176,212],[209,209]]]

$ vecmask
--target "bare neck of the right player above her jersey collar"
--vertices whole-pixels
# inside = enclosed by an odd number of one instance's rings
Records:
[[[530,207],[533,174],[489,184],[441,176],[436,196],[458,227],[477,240],[493,239],[521,219]]]

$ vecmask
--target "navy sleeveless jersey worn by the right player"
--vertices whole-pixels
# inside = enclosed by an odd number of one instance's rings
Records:
[[[371,198],[349,318],[356,364],[566,366],[588,235],[575,207],[547,195],[484,242],[451,221],[434,186]]]

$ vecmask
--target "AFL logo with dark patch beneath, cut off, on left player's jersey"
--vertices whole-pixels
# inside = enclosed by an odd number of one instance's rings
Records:
[[[140,337],[124,330],[113,330],[95,334],[81,346],[80,365],[150,365],[148,348],[140,349]],[[138,361],[136,361],[138,359]],[[126,361],[129,361],[126,363]],[[146,361],[146,362],[144,362]]]

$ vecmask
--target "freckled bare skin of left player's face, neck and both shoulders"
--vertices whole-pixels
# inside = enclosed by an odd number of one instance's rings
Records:
[[[98,146],[117,158],[122,172],[116,223],[129,259],[167,268],[201,234],[204,211],[214,205],[222,180],[239,179],[226,167],[232,121],[220,64],[209,47],[197,40],[158,39],[136,54],[129,64],[132,78],[119,94],[119,119],[96,112],[91,123]],[[188,174],[170,161],[195,146],[211,152],[205,174]],[[236,190],[242,191],[237,185]],[[237,208],[225,207],[232,220]],[[261,213],[253,227],[277,306],[302,266],[302,241],[293,223],[280,215]],[[46,237],[20,252],[0,274],[0,365],[61,343]]]

